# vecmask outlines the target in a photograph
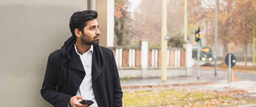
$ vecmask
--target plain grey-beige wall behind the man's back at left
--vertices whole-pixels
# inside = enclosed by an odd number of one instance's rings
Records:
[[[71,36],[70,16],[86,9],[86,0],[0,1],[1,107],[52,106],[40,94],[48,56]]]

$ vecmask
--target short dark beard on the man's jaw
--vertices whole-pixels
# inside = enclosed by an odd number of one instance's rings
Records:
[[[93,38],[86,35],[85,33],[81,37],[81,41],[83,45],[99,45],[99,39],[96,40],[95,38],[99,35],[95,35]]]

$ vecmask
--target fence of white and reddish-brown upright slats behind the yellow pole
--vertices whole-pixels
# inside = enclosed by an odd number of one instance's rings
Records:
[[[144,43],[147,46],[147,42]],[[161,66],[160,48],[148,47],[108,47],[115,53],[116,64],[118,67],[159,67]],[[136,51],[137,50],[137,51]],[[183,56],[182,55],[183,51]],[[124,53],[125,52],[125,53]],[[139,52],[140,54],[138,54]],[[136,54],[137,53],[137,54]],[[137,55],[137,56],[136,56]],[[188,65],[185,60],[184,48],[168,48],[166,53],[167,67],[180,67]],[[139,59],[139,61],[138,61]],[[136,64],[136,65],[135,65]]]

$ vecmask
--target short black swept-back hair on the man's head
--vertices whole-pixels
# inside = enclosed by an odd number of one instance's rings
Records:
[[[77,28],[84,33],[84,27],[87,25],[86,21],[94,20],[98,17],[95,10],[84,10],[75,12],[69,19],[69,28],[72,36],[76,40],[75,29]]]

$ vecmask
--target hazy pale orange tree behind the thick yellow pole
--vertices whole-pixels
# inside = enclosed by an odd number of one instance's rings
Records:
[[[167,29],[169,35],[179,33],[182,17],[179,15],[179,2],[167,1]],[[133,25],[138,39],[149,41],[149,47],[160,47],[162,27],[162,2],[157,0],[142,0],[134,10]],[[181,35],[182,36],[182,35]]]

